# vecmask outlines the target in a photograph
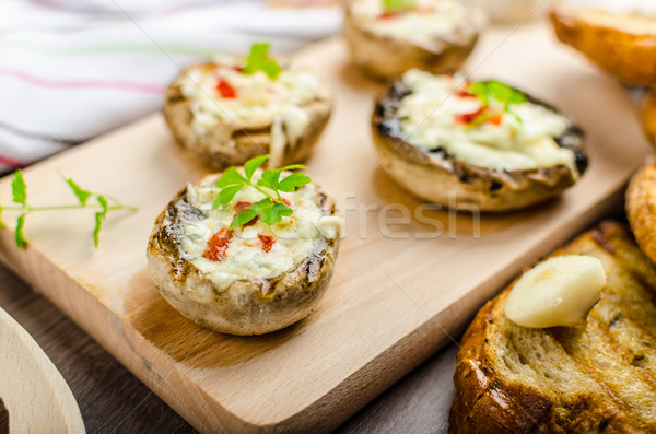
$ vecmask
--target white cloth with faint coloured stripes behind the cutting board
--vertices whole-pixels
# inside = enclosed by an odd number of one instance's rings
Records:
[[[214,52],[291,51],[340,25],[337,7],[259,0],[1,0],[0,172],[159,109],[180,69]]]

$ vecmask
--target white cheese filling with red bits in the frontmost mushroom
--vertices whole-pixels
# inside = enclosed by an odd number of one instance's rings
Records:
[[[258,174],[254,176],[255,179]],[[317,190],[311,184],[295,192],[283,192],[294,210],[292,215],[270,226],[259,220],[254,224],[232,227],[227,248],[219,260],[208,259],[206,251],[212,236],[229,228],[239,202],[257,202],[263,195],[244,187],[227,209],[212,210],[220,189],[209,186],[187,187],[189,203],[204,219],[185,222],[180,241],[181,257],[206,273],[218,288],[226,289],[237,280],[271,279],[292,271],[305,258],[316,253],[317,244],[335,239],[340,234],[342,219],[324,215],[317,204]],[[225,231],[223,231],[225,233]],[[223,233],[220,234],[224,239]]]

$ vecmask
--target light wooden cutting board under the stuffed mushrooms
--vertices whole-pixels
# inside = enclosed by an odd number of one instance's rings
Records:
[[[160,115],[25,171],[34,204],[74,202],[62,173],[139,207],[109,216],[99,249],[84,212],[30,215],[26,250],[14,247],[10,231],[0,233],[8,267],[202,432],[337,426],[452,339],[522,267],[618,210],[649,151],[625,90],[557,46],[546,26],[492,30],[466,69],[577,118],[590,167],[562,199],[525,212],[479,221],[429,210],[377,166],[368,117],[380,87],[348,64],[343,43],[315,45],[297,59],[335,87],[333,118],[307,163],[347,219],[328,293],[300,324],[262,337],[224,336],[196,327],[159,295],[144,256],[152,223],[202,174]],[[9,184],[0,183],[4,200]]]

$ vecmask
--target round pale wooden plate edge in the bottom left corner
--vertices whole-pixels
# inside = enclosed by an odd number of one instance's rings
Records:
[[[1,308],[0,348],[0,429],[7,424],[7,415],[12,433],[84,433],[80,409],[61,374],[30,333]]]

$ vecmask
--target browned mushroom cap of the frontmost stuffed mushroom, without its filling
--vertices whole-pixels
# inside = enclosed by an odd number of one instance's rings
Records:
[[[215,179],[210,175],[200,183]],[[337,213],[335,202],[323,192],[316,200],[327,215]],[[332,278],[339,234],[333,239],[317,239],[314,251],[286,273],[220,288],[180,255],[181,222],[201,218],[187,200],[185,188],[157,216],[150,235],[147,258],[151,279],[173,307],[201,327],[242,336],[279,330],[309,315]]]

